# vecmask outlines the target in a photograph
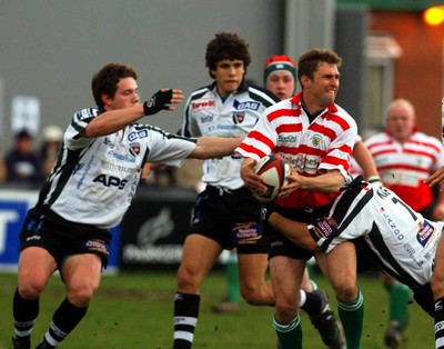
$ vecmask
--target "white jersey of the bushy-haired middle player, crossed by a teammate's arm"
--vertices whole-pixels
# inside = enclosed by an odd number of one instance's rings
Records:
[[[271,92],[246,81],[222,100],[214,82],[191,93],[181,132],[188,137],[245,137],[276,101]],[[243,186],[241,163],[238,154],[205,160],[202,180],[211,186],[239,189]]]

